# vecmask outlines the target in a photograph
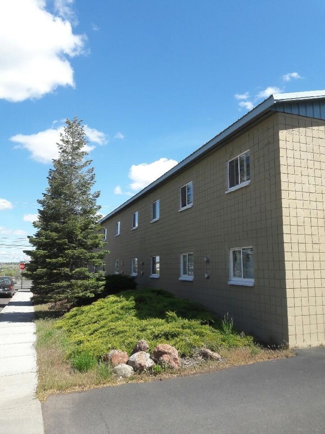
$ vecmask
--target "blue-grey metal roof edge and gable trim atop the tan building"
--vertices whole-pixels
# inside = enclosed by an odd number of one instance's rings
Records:
[[[285,112],[325,120],[325,90],[273,94],[269,96],[262,103],[258,104],[258,106],[250,110],[250,112],[246,113],[244,116],[231,124],[225,130],[221,131],[218,135],[206,142],[188,157],[184,158],[184,160],[180,161],[172,169],[168,170],[168,172],[160,176],[160,178],[153,181],[151,184],[143,188],[143,190],[139,191],[126,202],[122,203],[118,208],[107,214],[100,220],[99,223],[103,223],[105,220],[108,220],[117,212],[135,202],[139,197],[143,196],[158,185],[162,184],[168,178],[171,178],[173,175],[183,170],[203,154],[216,148],[217,146],[220,146],[226,139],[229,139],[231,136],[243,130],[249,124],[256,122],[260,117],[271,111]]]

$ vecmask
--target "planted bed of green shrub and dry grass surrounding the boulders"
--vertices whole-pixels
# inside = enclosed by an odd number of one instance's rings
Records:
[[[60,309],[35,306],[40,400],[51,393],[119,383],[102,358],[113,348],[130,354],[139,339],[148,342],[150,351],[158,343],[175,346],[184,363],[177,373],[155,365],[151,374],[135,374],[123,382],[209,372],[292,355],[256,346],[251,336],[234,330],[227,315],[219,321],[202,306],[162,290],[123,291],[73,308],[63,316]],[[193,363],[202,346],[219,352],[222,361]]]

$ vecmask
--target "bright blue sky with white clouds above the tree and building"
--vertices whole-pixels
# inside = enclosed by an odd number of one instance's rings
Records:
[[[323,0],[2,0],[0,262],[27,260],[66,118],[107,214],[272,93],[322,90]]]

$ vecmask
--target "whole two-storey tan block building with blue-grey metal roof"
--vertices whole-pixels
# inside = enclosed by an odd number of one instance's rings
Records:
[[[107,273],[325,343],[325,91],[275,94],[101,220]]]

